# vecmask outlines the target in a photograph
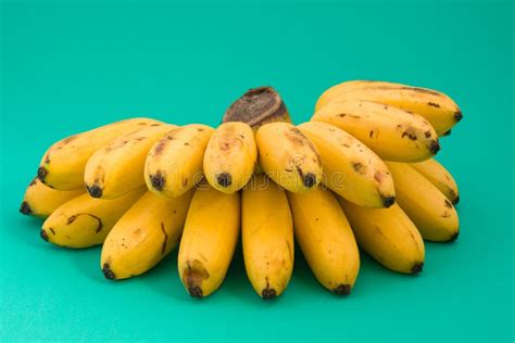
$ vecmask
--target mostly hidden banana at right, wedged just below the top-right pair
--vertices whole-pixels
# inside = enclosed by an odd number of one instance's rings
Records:
[[[410,165],[428,179],[429,182],[435,185],[451,203],[454,205],[459,203],[460,191],[457,190],[456,181],[454,181],[451,173],[438,163],[438,161],[430,158]]]

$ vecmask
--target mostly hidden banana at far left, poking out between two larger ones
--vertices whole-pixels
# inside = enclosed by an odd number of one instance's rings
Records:
[[[37,177],[28,185],[20,206],[24,215],[47,218],[65,202],[84,194],[85,189],[58,191],[45,186]]]

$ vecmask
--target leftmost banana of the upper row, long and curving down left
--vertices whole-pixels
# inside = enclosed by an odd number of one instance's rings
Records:
[[[160,123],[149,118],[126,119],[90,131],[70,136],[54,143],[45,153],[38,169],[39,179],[59,190],[84,188],[84,168],[89,157],[103,145],[121,135],[150,124]]]

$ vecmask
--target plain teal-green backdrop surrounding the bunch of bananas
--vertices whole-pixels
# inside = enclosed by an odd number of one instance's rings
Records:
[[[513,341],[514,13],[512,1],[3,2],[0,340]],[[263,302],[238,252],[198,301],[176,251],[111,282],[100,249],[47,244],[17,213],[64,136],[140,115],[215,126],[261,85],[300,123],[325,88],[356,78],[440,89],[465,115],[439,154],[461,187],[462,234],[427,243],[418,277],[363,256],[339,298],[297,254],[287,292]]]

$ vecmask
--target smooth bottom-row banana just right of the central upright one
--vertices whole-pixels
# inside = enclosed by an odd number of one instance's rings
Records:
[[[297,242],[315,278],[339,295],[349,294],[360,271],[360,252],[335,195],[322,188],[288,193]]]

